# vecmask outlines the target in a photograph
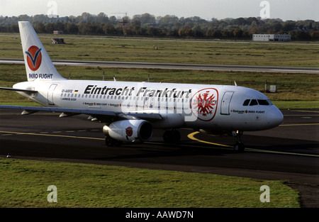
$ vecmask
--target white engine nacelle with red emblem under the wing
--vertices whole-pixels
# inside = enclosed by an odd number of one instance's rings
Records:
[[[153,128],[150,122],[144,120],[116,121],[103,127],[103,133],[118,141],[145,142],[152,138]]]

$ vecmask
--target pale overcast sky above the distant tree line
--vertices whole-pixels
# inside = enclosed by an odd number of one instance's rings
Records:
[[[319,0],[0,0],[0,16],[50,14],[79,16],[82,12],[124,16],[199,16],[211,18],[262,17],[319,21]]]

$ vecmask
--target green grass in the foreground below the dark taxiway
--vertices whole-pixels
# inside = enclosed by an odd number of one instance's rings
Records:
[[[0,207],[299,207],[284,182],[214,174],[0,158]],[[47,187],[57,187],[57,202]],[[262,185],[270,202],[261,202]]]

